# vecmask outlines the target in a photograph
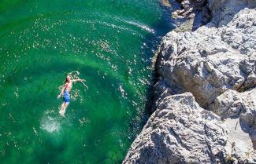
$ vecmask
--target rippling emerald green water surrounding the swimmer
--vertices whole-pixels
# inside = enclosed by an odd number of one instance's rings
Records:
[[[143,126],[158,0],[0,1],[0,163],[121,163]],[[65,118],[57,99],[79,71]]]

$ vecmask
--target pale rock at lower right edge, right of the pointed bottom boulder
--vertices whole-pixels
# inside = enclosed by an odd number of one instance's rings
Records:
[[[232,156],[239,163],[256,163],[256,88],[243,93],[227,90],[216,98],[213,111],[229,131]]]

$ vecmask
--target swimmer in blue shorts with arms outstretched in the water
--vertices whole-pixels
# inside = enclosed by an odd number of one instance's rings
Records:
[[[65,80],[65,84],[61,89],[61,93],[58,95],[58,98],[61,97],[61,95],[63,96],[63,103],[61,104],[61,108],[59,113],[61,115],[65,115],[65,110],[66,108],[68,108],[69,106],[69,102],[70,102],[70,91],[72,89],[72,82],[84,82],[85,80],[77,78],[77,79],[71,79],[70,75],[67,75],[66,80]],[[83,86],[86,86],[83,83]],[[87,86],[86,86],[87,87]],[[88,89],[88,87],[87,87]]]

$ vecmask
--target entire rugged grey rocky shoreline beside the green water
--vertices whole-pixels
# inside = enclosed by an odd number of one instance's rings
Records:
[[[180,2],[191,27],[162,38],[154,113],[123,163],[256,163],[256,1]]]

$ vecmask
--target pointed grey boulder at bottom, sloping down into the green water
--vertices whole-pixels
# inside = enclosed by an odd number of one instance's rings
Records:
[[[123,163],[221,162],[226,136],[221,118],[200,108],[191,93],[165,97]]]

